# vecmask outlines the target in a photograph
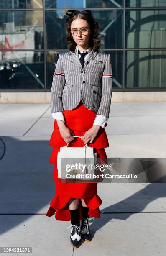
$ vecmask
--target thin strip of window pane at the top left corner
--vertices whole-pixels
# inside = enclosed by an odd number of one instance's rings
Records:
[[[43,8],[43,0],[0,0],[0,9]]]

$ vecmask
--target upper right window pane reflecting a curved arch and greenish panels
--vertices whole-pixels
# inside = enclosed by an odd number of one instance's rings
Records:
[[[126,10],[126,48],[166,47],[166,10]]]

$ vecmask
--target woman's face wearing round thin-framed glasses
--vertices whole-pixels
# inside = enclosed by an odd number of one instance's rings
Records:
[[[73,37],[73,40],[76,42],[77,46],[84,47],[84,46],[89,45],[90,25],[86,20],[83,20],[83,19],[80,19],[80,18],[78,18],[76,20],[73,20],[72,23],[71,23],[70,28],[71,28],[71,31],[79,30],[81,28],[86,28],[88,30],[87,34],[85,33],[86,35],[82,35],[80,33],[80,31],[78,31],[77,36],[74,36],[72,34],[72,37]]]

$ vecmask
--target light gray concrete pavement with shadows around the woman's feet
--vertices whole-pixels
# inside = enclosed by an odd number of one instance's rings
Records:
[[[165,255],[166,184],[98,184],[101,219],[73,249],[70,222],[46,217],[55,194],[49,104],[0,105],[0,246],[32,255]],[[165,158],[166,102],[112,103],[107,157]],[[21,255],[21,254],[19,254]]]

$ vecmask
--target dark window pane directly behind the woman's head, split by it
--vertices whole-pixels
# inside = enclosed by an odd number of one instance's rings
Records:
[[[66,15],[64,10],[46,11],[47,49],[68,49],[66,42]],[[107,48],[123,48],[123,10],[92,10],[100,28],[100,38]]]

